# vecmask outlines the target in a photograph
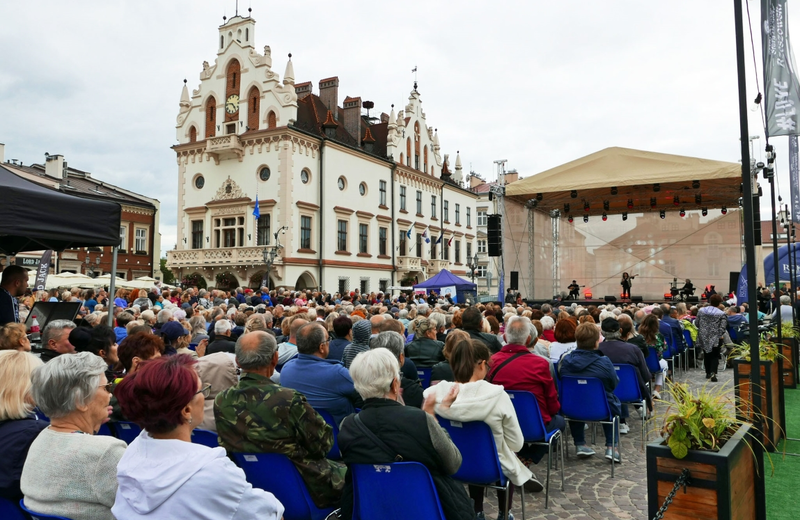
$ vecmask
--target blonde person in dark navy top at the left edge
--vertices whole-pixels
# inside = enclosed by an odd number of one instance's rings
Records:
[[[40,366],[42,360],[28,352],[0,352],[0,498],[14,503],[22,498],[19,477],[28,449],[49,424],[33,413],[31,372]]]

